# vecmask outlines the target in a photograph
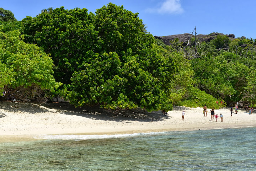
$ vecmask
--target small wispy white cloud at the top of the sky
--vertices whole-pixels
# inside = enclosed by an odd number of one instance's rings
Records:
[[[181,14],[184,10],[181,7],[180,0],[165,0],[160,7],[147,9],[148,12],[157,12],[159,14]]]

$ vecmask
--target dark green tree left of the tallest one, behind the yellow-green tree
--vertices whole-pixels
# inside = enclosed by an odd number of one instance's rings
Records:
[[[49,53],[55,64],[54,78],[70,83],[71,75],[89,58],[88,50],[97,49],[97,31],[94,14],[87,9],[53,10],[52,14],[42,13],[37,17],[26,17],[24,25],[25,42],[34,43]]]

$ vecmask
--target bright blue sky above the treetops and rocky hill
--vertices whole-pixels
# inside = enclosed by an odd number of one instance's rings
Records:
[[[233,33],[256,39],[255,0],[1,0],[0,7],[22,20],[51,6],[95,12],[109,2],[138,12],[153,36],[191,33],[196,26],[197,34]]]

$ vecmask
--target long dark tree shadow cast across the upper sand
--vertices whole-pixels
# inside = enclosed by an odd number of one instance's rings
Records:
[[[164,121],[165,118],[171,118],[169,115],[162,115],[161,111],[147,112],[144,109],[124,110],[119,113],[113,113],[98,106],[74,107],[69,103],[43,103],[41,105],[34,103],[20,102],[0,102],[0,108],[8,112],[26,112],[31,114],[40,113],[61,113],[66,115],[81,116],[90,119],[100,119],[103,121],[127,122],[157,122]],[[0,113],[1,114],[1,113]],[[2,114],[3,117],[6,115]]]

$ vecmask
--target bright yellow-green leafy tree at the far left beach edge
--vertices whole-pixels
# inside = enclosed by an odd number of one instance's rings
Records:
[[[49,55],[36,45],[23,42],[19,30],[6,33],[2,30],[5,29],[0,25],[0,90],[6,91],[1,100],[21,89],[29,89],[26,98],[34,98],[36,91],[57,88]]]

